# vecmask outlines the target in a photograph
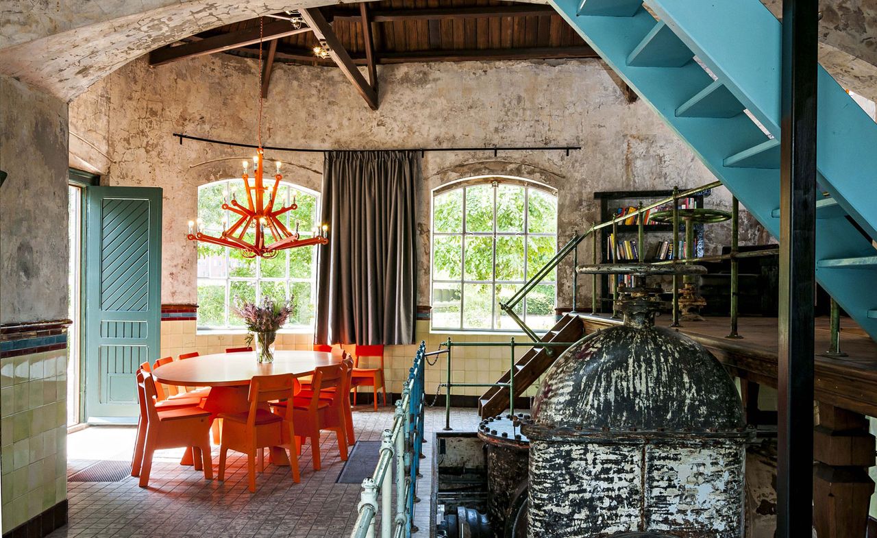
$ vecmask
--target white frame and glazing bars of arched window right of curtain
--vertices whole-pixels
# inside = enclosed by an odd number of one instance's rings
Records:
[[[481,186],[481,185],[491,185],[494,187],[494,198],[492,205],[493,212],[493,225],[492,231],[490,232],[472,232],[467,229],[467,206],[466,206],[466,193],[469,187]],[[524,192],[524,227],[523,231],[520,233],[517,232],[504,232],[497,229],[497,213],[496,213],[496,196],[500,186],[518,186],[523,188]],[[436,223],[436,201],[442,195],[446,195],[453,191],[461,191],[462,193],[462,203],[460,204],[460,219],[462,222],[461,231],[460,232],[446,232],[437,229]],[[538,191],[541,197],[548,197],[553,204],[553,229],[550,233],[546,232],[531,232],[530,226],[530,197],[532,191]],[[477,332],[517,332],[519,331],[519,327],[514,323],[512,319],[510,319],[507,315],[502,315],[499,308],[499,300],[497,299],[497,294],[503,292],[503,298],[509,298],[507,296],[510,293],[510,289],[501,290],[498,286],[517,286],[519,287],[521,284],[525,283],[536,270],[540,269],[544,263],[554,253],[557,252],[557,190],[549,185],[545,185],[544,183],[538,183],[529,179],[521,178],[521,177],[513,177],[513,176],[476,176],[469,177],[466,179],[461,179],[452,183],[446,183],[444,185],[439,186],[438,188],[432,190],[431,193],[431,240],[430,240],[430,262],[431,262],[431,305],[432,305],[432,322],[431,322],[431,330],[433,332],[446,332],[446,331],[477,331]],[[460,277],[459,278],[445,278],[442,276],[438,276],[437,272],[439,272],[436,266],[436,254],[437,254],[437,238],[443,237],[460,237]],[[524,268],[523,268],[523,278],[520,279],[502,279],[497,278],[497,268],[496,268],[496,245],[497,245],[497,237],[508,237],[508,236],[520,236],[523,237],[524,242]],[[492,276],[488,280],[474,280],[467,278],[467,270],[466,270],[466,249],[467,249],[467,238],[474,237],[492,237],[492,255],[493,255],[493,269]],[[547,241],[550,241],[552,246],[551,255],[550,256],[541,256],[538,258],[538,267],[528,267],[529,258],[528,250],[531,246],[531,238],[544,238],[543,244]],[[445,292],[449,289],[453,288],[453,286],[459,285],[460,290],[460,302],[459,302],[459,314],[455,314],[459,316],[459,323],[449,323],[447,319],[449,319],[450,315],[444,315],[443,312],[444,306],[440,304],[437,295]],[[466,305],[467,305],[467,289],[471,290],[475,285],[489,285],[490,286],[490,296],[491,296],[491,310],[490,310],[490,322],[489,325],[486,323],[467,323],[466,319]],[[545,310],[545,300],[546,294],[544,291],[550,288],[550,312],[541,312],[543,315],[538,316],[538,319],[535,319],[535,314],[531,314],[531,308],[528,308],[526,305],[527,300],[524,299],[520,305],[517,306],[516,313],[524,318],[527,321],[528,325],[537,329],[537,330],[547,330],[551,326],[553,326],[553,308],[556,305],[557,300],[557,282],[556,282],[556,271],[553,273],[553,276],[546,278],[543,283],[540,284],[540,291],[542,293],[543,305],[542,310]],[[515,288],[517,289],[517,288]],[[450,291],[453,294],[453,289]],[[443,293],[446,294],[446,293]],[[535,304],[535,303],[534,303]],[[528,319],[529,318],[529,319]],[[533,321],[537,323],[533,323]]]

